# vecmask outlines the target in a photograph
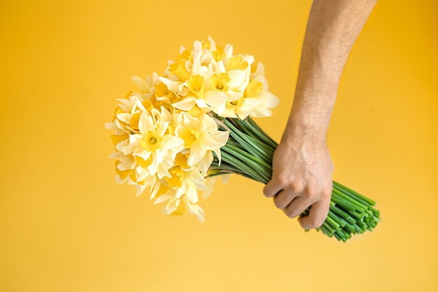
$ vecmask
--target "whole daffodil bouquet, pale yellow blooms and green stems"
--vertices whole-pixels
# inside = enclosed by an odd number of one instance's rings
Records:
[[[269,92],[262,63],[233,53],[213,39],[181,47],[162,76],[132,77],[139,90],[118,99],[111,139],[115,180],[146,189],[165,214],[195,214],[204,221],[199,197],[213,191],[218,176],[271,179],[276,141],[253,118],[271,116],[278,98]],[[330,212],[317,230],[346,241],[379,222],[375,202],[333,183]],[[309,210],[306,210],[303,215]]]

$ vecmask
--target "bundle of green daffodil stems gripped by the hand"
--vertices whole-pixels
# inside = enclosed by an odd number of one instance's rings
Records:
[[[260,183],[268,183],[272,175],[272,156],[278,146],[276,141],[250,117],[244,120],[222,118],[214,114],[213,117],[221,130],[229,131],[229,139],[220,148],[220,162],[215,156],[210,176],[240,174]],[[372,231],[380,221],[380,213],[374,208],[375,205],[374,200],[333,181],[330,211],[323,225],[316,230],[342,242],[366,230]],[[302,216],[308,214],[309,209],[306,209]]]

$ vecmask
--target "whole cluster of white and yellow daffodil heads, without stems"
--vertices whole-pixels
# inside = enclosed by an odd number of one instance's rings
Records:
[[[220,153],[232,138],[220,119],[270,116],[278,104],[262,64],[256,67],[253,56],[235,55],[232,45],[218,47],[209,37],[191,50],[181,47],[162,76],[132,81],[138,90],[118,99],[113,121],[105,125],[113,130],[115,180],[134,185],[137,195],[148,189],[165,214],[204,221],[198,193],[207,197],[215,175],[228,173],[220,170]]]

